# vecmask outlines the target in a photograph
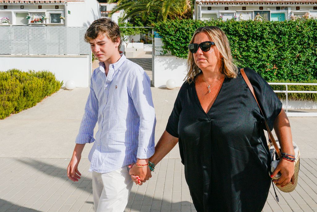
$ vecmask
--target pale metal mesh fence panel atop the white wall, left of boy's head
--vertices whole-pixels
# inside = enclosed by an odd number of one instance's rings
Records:
[[[0,54],[89,55],[88,27],[0,27]]]

